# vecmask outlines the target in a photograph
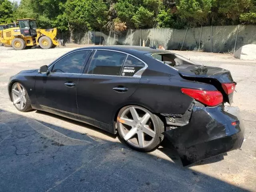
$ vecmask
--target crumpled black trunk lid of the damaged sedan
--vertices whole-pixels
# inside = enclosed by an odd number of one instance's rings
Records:
[[[176,68],[180,75],[184,77],[214,78],[218,80],[220,83],[233,82],[230,71],[218,67],[183,64],[174,66],[174,68]]]

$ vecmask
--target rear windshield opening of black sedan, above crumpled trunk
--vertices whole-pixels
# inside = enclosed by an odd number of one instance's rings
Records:
[[[175,53],[170,53],[170,52],[160,52],[160,53],[148,53],[146,54],[147,56],[153,57],[154,59],[167,64],[169,66],[178,66],[178,65],[184,65],[184,64],[195,64],[197,63],[182,57],[178,54]]]

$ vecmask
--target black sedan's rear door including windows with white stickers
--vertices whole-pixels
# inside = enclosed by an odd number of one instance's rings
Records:
[[[77,87],[79,114],[98,122],[96,126],[111,124],[112,114],[129,102],[144,68],[144,62],[124,52],[96,50]]]

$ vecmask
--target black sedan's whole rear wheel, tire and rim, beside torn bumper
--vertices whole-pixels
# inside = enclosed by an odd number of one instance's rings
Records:
[[[131,148],[148,152],[162,141],[164,123],[140,106],[125,106],[117,117],[118,134]]]

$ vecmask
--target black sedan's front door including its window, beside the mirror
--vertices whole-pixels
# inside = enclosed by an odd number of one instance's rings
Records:
[[[40,107],[59,112],[78,113],[76,88],[86,59],[92,50],[67,54],[50,66],[49,74],[36,76],[36,99]]]

